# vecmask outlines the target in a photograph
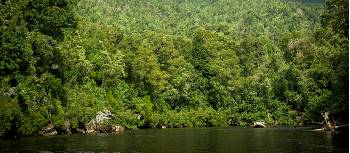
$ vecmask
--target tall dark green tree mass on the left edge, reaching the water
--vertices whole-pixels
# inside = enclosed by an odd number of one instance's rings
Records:
[[[0,121],[11,124],[11,129],[2,127],[5,133],[37,132],[57,115],[51,109],[54,103],[65,102],[58,42],[63,39],[63,28],[75,27],[74,4],[68,0],[1,1],[0,79],[11,78],[0,87],[7,90],[1,99],[8,100],[2,101],[8,104],[1,109],[7,110],[5,115],[10,111],[16,116]],[[5,94],[9,91],[11,98]]]

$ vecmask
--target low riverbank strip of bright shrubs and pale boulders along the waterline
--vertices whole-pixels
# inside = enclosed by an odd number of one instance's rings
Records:
[[[187,111],[166,111],[156,113],[143,110],[141,113],[112,112],[109,110],[90,113],[91,117],[84,120],[75,120],[65,117],[63,121],[50,121],[42,125],[40,130],[30,135],[52,136],[72,133],[120,133],[132,129],[155,128],[193,128],[193,127],[228,127],[228,126],[253,126],[254,121],[264,120],[267,126],[288,125],[302,126],[302,122],[295,117],[288,120],[272,120],[268,114],[238,114],[228,110],[216,111],[212,108],[199,108]],[[278,124],[277,124],[278,123]],[[5,137],[21,137],[30,135],[18,135],[16,133],[3,133]]]

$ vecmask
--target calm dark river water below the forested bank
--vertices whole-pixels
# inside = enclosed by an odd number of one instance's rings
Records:
[[[349,152],[349,133],[310,128],[184,128],[0,139],[0,152]]]

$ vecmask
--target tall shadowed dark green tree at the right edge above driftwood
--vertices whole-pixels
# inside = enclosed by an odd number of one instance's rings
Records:
[[[348,122],[349,111],[348,9],[348,1],[326,2],[322,28],[314,34],[318,48],[307,73],[313,82],[309,85],[309,113],[320,116],[320,112],[330,112],[343,122]]]

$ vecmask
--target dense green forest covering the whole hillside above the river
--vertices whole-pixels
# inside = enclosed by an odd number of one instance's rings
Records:
[[[348,1],[1,0],[0,135],[348,122]]]

